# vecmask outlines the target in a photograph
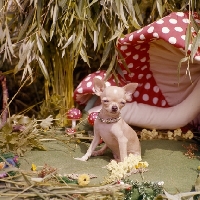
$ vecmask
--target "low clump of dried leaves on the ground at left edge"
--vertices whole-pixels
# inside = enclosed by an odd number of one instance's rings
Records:
[[[51,120],[52,121],[52,120]],[[49,118],[38,123],[36,119],[26,116],[12,116],[0,130],[1,152],[12,152],[23,156],[25,152],[38,148],[45,150],[39,140],[39,130],[41,124],[46,124],[45,128],[51,125]]]

